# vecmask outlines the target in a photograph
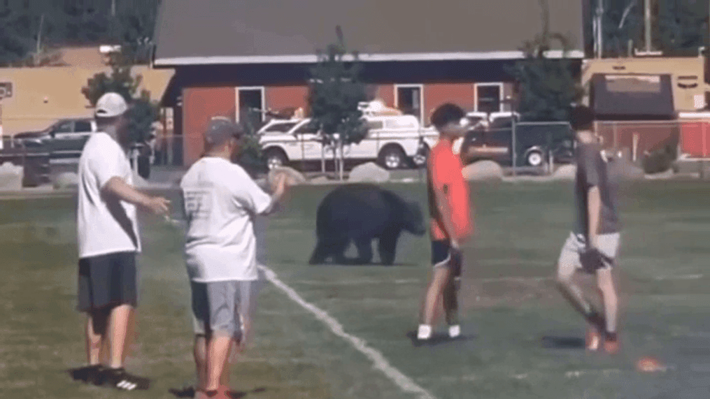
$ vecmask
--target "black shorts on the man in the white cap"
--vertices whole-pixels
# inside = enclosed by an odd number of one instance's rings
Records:
[[[80,312],[138,305],[136,252],[114,252],[79,259]]]

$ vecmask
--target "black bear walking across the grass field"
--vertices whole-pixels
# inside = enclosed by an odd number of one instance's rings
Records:
[[[346,184],[323,198],[316,216],[318,242],[310,264],[322,264],[329,257],[346,264],[345,250],[355,242],[355,262],[372,261],[372,240],[378,239],[383,264],[395,260],[400,232],[424,235],[426,228],[420,206],[374,184]]]

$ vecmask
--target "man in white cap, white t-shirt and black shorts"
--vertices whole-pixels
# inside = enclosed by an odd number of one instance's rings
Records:
[[[77,236],[79,249],[78,305],[87,313],[88,365],[72,377],[121,390],[148,389],[147,378],[123,368],[129,318],[137,305],[136,254],[141,252],[136,206],[167,214],[170,201],[146,196],[133,188],[127,156],[131,145],[129,106],[116,93],[96,104],[98,132],[84,145],[79,159]],[[109,364],[99,354],[109,343]]]

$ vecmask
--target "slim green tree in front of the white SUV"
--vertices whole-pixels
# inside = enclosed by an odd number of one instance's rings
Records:
[[[346,62],[348,54],[342,28],[335,28],[337,42],[327,46],[325,51],[318,51],[318,62],[310,69],[310,94],[308,103],[311,112],[311,124],[322,135],[322,145],[332,146],[334,154],[337,145],[359,143],[367,135],[367,128],[362,120],[362,111],[358,105],[366,101],[366,85],[361,81],[362,64],[358,52],[353,51],[352,62]],[[336,142],[335,135],[339,135]],[[342,177],[343,160],[340,162]]]

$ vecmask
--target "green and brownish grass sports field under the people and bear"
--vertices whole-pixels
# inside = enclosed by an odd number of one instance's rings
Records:
[[[423,186],[390,187],[424,204]],[[465,339],[431,347],[408,338],[427,278],[427,237],[403,235],[391,267],[307,265],[317,203],[329,189],[293,190],[268,223],[268,266],[436,398],[710,395],[707,184],[625,190],[622,351],[613,357],[578,347],[584,325],[550,280],[572,223],[570,184],[474,186],[477,232],[465,248],[461,291]],[[119,393],[68,378],[65,370],[84,361],[74,209],[74,198],[0,202],[2,396],[175,398],[170,389],[194,382],[182,233],[150,215],[142,216],[139,335],[127,366],[153,378],[151,390]],[[414,397],[275,286],[264,286],[255,317],[255,340],[232,373],[245,398]],[[646,355],[670,368],[635,371]]]

